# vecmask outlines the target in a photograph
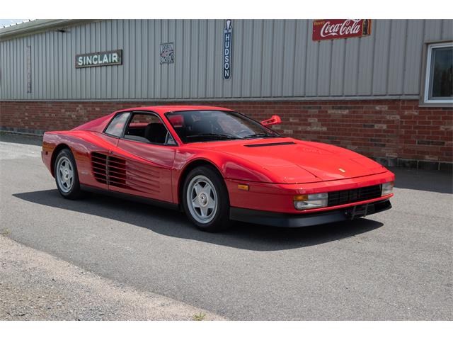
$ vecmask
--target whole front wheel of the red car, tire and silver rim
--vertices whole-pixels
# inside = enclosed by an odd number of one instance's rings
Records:
[[[183,208],[189,220],[204,232],[229,227],[229,196],[216,169],[198,166],[185,178]]]

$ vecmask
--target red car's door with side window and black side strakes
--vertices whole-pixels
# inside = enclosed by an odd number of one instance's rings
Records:
[[[159,115],[134,112],[109,157],[109,189],[173,202],[171,169],[177,145]]]

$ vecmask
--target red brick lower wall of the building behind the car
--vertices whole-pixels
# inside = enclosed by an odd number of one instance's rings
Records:
[[[347,147],[391,165],[414,166],[411,162],[415,162],[418,166],[428,161],[425,163],[438,167],[439,162],[453,162],[453,108],[420,108],[418,101],[404,100],[205,103],[232,108],[257,120],[278,114],[283,123],[275,130],[283,135]],[[122,108],[159,104],[166,103],[3,101],[0,128],[69,130]]]

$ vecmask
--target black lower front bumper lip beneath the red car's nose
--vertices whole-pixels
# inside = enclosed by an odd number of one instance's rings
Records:
[[[310,225],[353,220],[357,217],[365,217],[390,208],[390,200],[386,198],[372,203],[306,214],[287,214],[231,207],[229,217],[231,220],[270,225],[273,227],[308,227]]]

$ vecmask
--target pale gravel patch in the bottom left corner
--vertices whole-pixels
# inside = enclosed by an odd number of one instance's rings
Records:
[[[8,234],[3,231],[3,234]],[[0,320],[192,320],[215,314],[113,282],[0,236]]]

